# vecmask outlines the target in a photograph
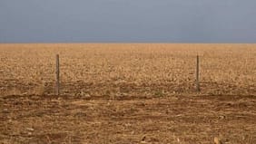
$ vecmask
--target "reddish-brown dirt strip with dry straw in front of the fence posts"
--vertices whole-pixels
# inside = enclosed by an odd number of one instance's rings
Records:
[[[255,96],[7,96],[1,143],[256,143]]]

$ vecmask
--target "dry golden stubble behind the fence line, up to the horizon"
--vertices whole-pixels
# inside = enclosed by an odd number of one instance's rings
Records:
[[[40,89],[39,94],[53,94],[56,53],[61,55],[61,79],[65,94],[77,95],[82,91],[95,96],[108,92],[128,92],[132,95],[192,93],[197,53],[201,56],[204,94],[255,93],[254,44],[0,46],[0,84],[5,85],[2,88],[4,95],[13,94],[14,91],[14,94],[34,94],[38,92],[37,89]],[[122,86],[128,87],[128,90]]]

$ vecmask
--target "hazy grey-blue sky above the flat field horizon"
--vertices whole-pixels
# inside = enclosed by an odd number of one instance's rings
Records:
[[[0,0],[0,43],[256,43],[256,0]]]

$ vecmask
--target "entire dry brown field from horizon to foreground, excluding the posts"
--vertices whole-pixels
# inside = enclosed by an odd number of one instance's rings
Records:
[[[0,121],[4,144],[254,144],[256,44],[0,44]]]

